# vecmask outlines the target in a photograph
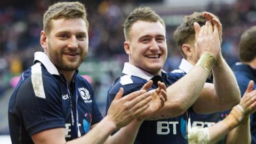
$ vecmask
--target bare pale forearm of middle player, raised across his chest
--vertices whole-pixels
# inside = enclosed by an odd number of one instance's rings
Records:
[[[167,101],[158,114],[167,117],[182,114],[197,100],[207,76],[204,68],[196,66],[179,81],[167,87]]]

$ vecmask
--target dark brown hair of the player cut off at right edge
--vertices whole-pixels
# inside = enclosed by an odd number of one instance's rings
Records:
[[[256,26],[244,31],[239,42],[239,59],[250,62],[256,57]]]

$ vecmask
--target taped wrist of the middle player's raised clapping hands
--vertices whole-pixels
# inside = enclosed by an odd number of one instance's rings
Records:
[[[210,53],[204,53],[201,55],[200,59],[197,61],[196,66],[202,67],[210,74],[212,66],[215,64],[216,60]]]

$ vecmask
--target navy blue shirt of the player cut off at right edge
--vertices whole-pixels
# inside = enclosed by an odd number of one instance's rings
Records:
[[[244,95],[244,92],[247,89],[247,86],[250,80],[254,81],[254,89],[256,89],[256,69],[253,69],[249,65],[245,65],[241,62],[235,63],[233,70],[237,79],[237,83],[241,92],[241,95]],[[250,125],[251,125],[251,137],[252,143],[256,144],[256,114],[253,113],[250,116]]]

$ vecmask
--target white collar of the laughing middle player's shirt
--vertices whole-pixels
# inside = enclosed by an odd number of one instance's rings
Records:
[[[163,73],[166,73],[164,70],[162,70]],[[152,77],[154,77],[154,75],[147,73],[145,70],[142,70],[136,66],[133,66],[131,63],[129,62],[125,62],[124,63],[124,69],[122,71],[123,74],[125,75],[132,75],[132,76],[138,76],[141,77],[143,79],[146,79],[147,81],[149,81]]]

